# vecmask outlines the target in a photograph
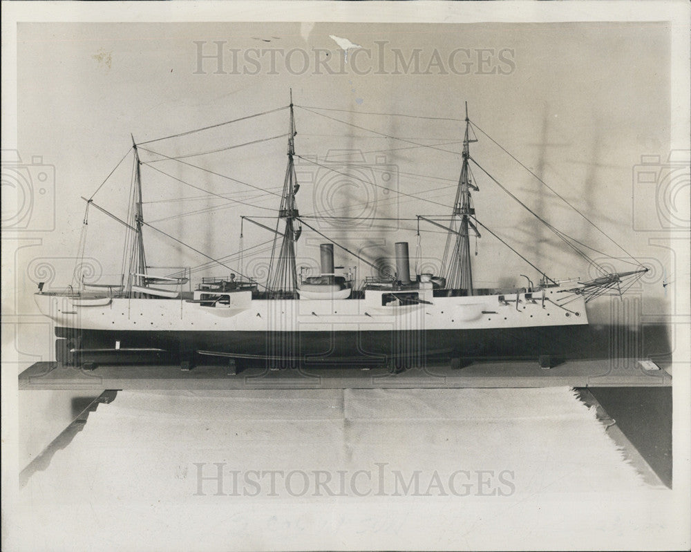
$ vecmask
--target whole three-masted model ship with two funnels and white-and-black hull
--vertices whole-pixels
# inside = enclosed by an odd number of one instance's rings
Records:
[[[468,119],[467,105],[455,200],[436,216],[415,217],[418,238],[424,226],[446,234],[441,273],[419,269],[411,273],[408,242],[395,243],[391,251],[395,269],[382,271],[371,259],[352,251],[355,248],[341,245],[301,216],[296,203],[295,163],[300,156],[295,149],[294,107],[291,94],[290,105],[284,107],[290,113],[287,169],[281,193],[274,193],[276,225],[265,225],[251,216],[242,220],[241,233],[249,227],[245,223],[251,223],[252,229],[273,234],[265,281],[243,274],[241,263],[233,268],[146,222],[141,174],[145,163],[140,150],[149,142],[137,144],[133,139],[133,193],[126,220],[97,204],[93,196],[83,198],[85,228],[88,214],[96,209],[126,230],[120,280],[88,283],[80,278],[68,289],[44,289],[41,283],[35,294],[41,313],[54,323],[59,363],[92,369],[110,363],[167,363],[192,369],[207,363],[246,362],[274,369],[314,363],[341,368],[386,365],[401,370],[435,359],[451,359],[461,367],[467,359],[512,358],[534,359],[547,368],[554,359],[579,354],[591,340],[589,301],[603,295],[621,296],[646,271],[635,260],[631,261],[634,269],[627,272],[603,269],[583,254],[580,242],[565,238],[477,164],[471,157],[477,126]],[[556,279],[481,222],[471,196],[479,190],[472,166],[579,251],[598,276]],[[191,270],[155,276],[146,260],[147,231],[189,247],[205,258],[207,266],[223,267],[227,275],[201,278],[194,286]],[[319,269],[296,265],[296,246],[303,231],[322,242]],[[516,275],[524,287],[474,285],[471,238],[485,233],[504,243],[534,271],[532,278]],[[334,248],[356,265],[335,266]],[[238,254],[242,256],[243,251]],[[358,267],[370,275],[359,278]]]

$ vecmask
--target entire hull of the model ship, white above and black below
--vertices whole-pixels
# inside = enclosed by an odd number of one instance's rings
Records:
[[[561,291],[449,297],[421,289],[414,293],[424,303],[412,305],[388,301],[386,290],[332,300],[236,292],[214,306],[198,298],[113,298],[104,307],[80,308],[64,296],[36,298],[53,318],[59,356],[68,361],[412,365],[434,356],[564,354],[586,339],[587,315],[582,298],[558,305]]]

